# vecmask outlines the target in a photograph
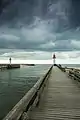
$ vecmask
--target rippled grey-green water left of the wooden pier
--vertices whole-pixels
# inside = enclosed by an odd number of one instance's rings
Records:
[[[51,65],[0,71],[0,119],[25,95]]]

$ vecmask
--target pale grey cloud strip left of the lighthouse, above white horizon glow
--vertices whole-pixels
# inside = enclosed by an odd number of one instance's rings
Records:
[[[50,52],[43,52],[43,51],[27,51],[27,50],[13,50],[13,51],[6,51],[4,50],[4,53],[1,53],[0,59],[9,59],[9,57],[12,57],[13,59],[25,59],[25,60],[45,60],[45,59],[51,59],[52,53]]]

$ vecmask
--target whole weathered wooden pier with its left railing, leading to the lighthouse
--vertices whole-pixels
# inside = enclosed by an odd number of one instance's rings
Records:
[[[80,120],[80,83],[52,66],[3,120]]]

